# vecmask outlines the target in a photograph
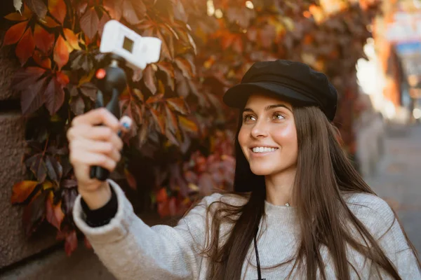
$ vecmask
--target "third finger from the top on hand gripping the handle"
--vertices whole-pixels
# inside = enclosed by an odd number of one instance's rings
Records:
[[[72,142],[71,145],[73,150],[86,151],[87,153],[102,153],[115,162],[121,160],[119,149],[111,142],[79,139]]]

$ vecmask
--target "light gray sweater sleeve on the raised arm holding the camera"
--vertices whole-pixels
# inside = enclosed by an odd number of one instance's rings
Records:
[[[91,227],[76,198],[73,216],[76,226],[91,242],[95,253],[117,279],[198,279],[199,255],[206,237],[206,209],[221,195],[205,197],[174,228],[149,227],[133,212],[123,190],[109,180],[118,208],[109,223]]]

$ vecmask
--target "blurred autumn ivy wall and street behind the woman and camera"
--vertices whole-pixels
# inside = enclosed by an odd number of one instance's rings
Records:
[[[0,18],[0,279],[114,279],[72,221],[65,137],[93,108],[110,19],[163,41],[158,63],[126,69],[135,125],[112,174],[146,223],[232,187],[222,94],[253,62],[291,59],[337,87],[343,148],[421,251],[420,0],[2,0]]]

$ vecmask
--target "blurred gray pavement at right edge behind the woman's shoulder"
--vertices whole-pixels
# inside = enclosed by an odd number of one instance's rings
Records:
[[[421,125],[387,127],[385,155],[366,182],[394,208],[421,255]]]

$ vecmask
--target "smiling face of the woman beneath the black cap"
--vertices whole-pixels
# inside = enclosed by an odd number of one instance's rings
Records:
[[[256,175],[274,176],[296,169],[298,142],[292,106],[263,94],[250,95],[239,144]]]

